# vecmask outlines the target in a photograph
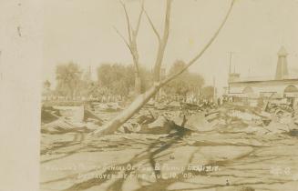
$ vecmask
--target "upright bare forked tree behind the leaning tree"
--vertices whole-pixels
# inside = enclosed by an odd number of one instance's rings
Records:
[[[135,68],[135,94],[139,95],[141,93],[141,81],[140,81],[140,76],[139,76],[139,51],[138,51],[138,45],[137,45],[137,37],[139,34],[139,25],[140,21],[143,15],[143,5],[144,3],[142,2],[141,10],[139,12],[139,17],[138,17],[138,23],[135,28],[132,27],[130,23],[130,19],[128,16],[128,10],[126,8],[126,5],[121,2],[121,5],[123,6],[124,12],[125,12],[125,17],[127,20],[127,27],[128,27],[128,40],[119,33],[118,29],[115,28],[117,31],[118,35],[121,36],[125,44],[128,46],[129,52],[132,55],[132,60],[134,63],[134,68]]]

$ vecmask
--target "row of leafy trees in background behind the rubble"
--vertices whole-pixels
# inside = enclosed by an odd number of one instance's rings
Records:
[[[169,72],[161,71],[161,78],[176,74],[185,66],[182,61],[176,61],[171,65]],[[132,96],[134,92],[135,77],[133,65],[101,64],[97,68],[98,80],[92,80],[90,71],[83,71],[75,63],[57,65],[57,86],[50,90],[50,82],[44,83],[46,94],[67,96],[100,97],[106,95],[118,95],[121,97]],[[141,92],[145,92],[153,83],[153,72],[148,68],[139,68]],[[186,70],[182,75],[172,80],[162,89],[165,95],[192,95],[210,97],[213,87],[203,87],[204,79],[201,75],[190,73]]]

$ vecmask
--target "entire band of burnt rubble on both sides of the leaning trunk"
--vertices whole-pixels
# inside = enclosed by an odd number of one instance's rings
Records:
[[[120,110],[122,106],[118,103],[43,107],[42,133],[92,132]],[[232,104],[196,105],[178,101],[159,103],[150,100],[138,114],[118,129],[118,133],[162,135],[219,131],[295,135],[297,126],[298,117],[289,106],[267,103],[260,108]]]

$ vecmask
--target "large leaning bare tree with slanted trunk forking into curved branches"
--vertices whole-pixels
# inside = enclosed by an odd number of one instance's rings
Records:
[[[180,72],[170,75],[166,79],[160,81],[160,78],[159,78],[160,67],[162,65],[164,51],[165,51],[165,48],[168,43],[168,37],[169,37],[169,32],[170,32],[170,7],[172,4],[172,1],[173,0],[167,0],[164,32],[163,32],[162,37],[160,37],[156,27],[153,25],[151,19],[149,18],[149,15],[147,14],[147,12],[145,12],[149,19],[149,24],[151,25],[154,33],[158,36],[158,39],[159,39],[159,49],[158,49],[158,53],[157,53],[156,62],[154,65],[154,75],[155,75],[154,84],[145,93],[137,96],[135,98],[135,100],[125,110],[123,110],[118,116],[116,116],[113,120],[109,121],[107,124],[102,126],[100,129],[93,132],[93,135],[99,136],[99,135],[108,135],[108,134],[114,133],[118,129],[118,127],[122,126],[125,122],[128,121],[129,118],[131,118],[137,112],[139,112],[139,110],[142,108],[142,106],[144,106],[149,101],[149,99],[151,97],[153,97],[154,95],[156,95],[159,92],[160,87],[169,83],[172,79],[176,78],[177,76],[182,74],[185,70],[187,70],[190,67],[190,65],[193,65],[196,61],[198,61],[199,58],[201,57],[201,55],[203,55],[205,53],[205,51],[214,42],[216,37],[220,34],[221,28],[225,25],[226,21],[229,18],[229,15],[231,15],[231,10],[232,10],[232,7],[235,2],[235,0],[231,0],[230,8],[229,8],[227,14],[225,15],[224,19],[222,20],[221,25],[219,26],[217,31],[214,33],[214,35],[212,35],[209,42],[202,48],[202,50],[200,50],[200,52],[197,55],[195,55],[187,63],[187,65],[185,65],[185,67],[180,70]]]

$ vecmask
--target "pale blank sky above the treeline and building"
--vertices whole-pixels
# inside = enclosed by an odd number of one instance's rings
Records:
[[[132,25],[136,25],[139,0],[123,0]],[[231,0],[174,0],[170,37],[163,65],[189,61],[200,52],[217,30]],[[163,31],[165,0],[145,0],[154,25]],[[118,0],[45,0],[43,80],[55,85],[56,65],[73,61],[83,69],[91,66],[92,77],[103,63],[131,64],[127,46],[114,27],[128,36],[124,11]],[[208,51],[190,67],[219,92],[227,84],[229,52],[232,70],[241,76],[275,74],[277,52],[288,51],[290,73],[298,74],[298,0],[236,0],[231,16]],[[145,16],[138,45],[140,63],[152,68],[157,38]],[[298,75],[297,75],[298,76]]]

